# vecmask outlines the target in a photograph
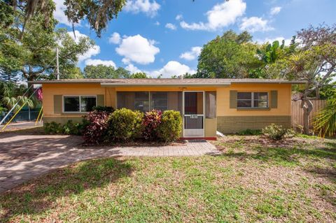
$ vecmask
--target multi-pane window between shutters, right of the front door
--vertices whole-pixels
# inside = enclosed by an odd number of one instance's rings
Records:
[[[237,108],[268,108],[268,93],[238,92]]]

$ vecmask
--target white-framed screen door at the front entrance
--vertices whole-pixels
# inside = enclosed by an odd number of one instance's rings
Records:
[[[204,92],[183,92],[183,136],[204,137]]]

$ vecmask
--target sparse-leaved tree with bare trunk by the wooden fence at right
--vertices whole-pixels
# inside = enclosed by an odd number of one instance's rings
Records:
[[[300,96],[304,110],[304,134],[309,134],[309,114],[313,109],[311,99],[319,99],[320,89],[336,72],[336,24],[308,27],[297,33],[302,50],[288,58],[288,78],[306,80]],[[315,96],[311,97],[311,93]]]

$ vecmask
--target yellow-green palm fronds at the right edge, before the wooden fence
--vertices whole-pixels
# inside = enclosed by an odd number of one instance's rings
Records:
[[[327,106],[314,118],[314,129],[318,136],[325,137],[336,134],[336,96],[327,101]]]

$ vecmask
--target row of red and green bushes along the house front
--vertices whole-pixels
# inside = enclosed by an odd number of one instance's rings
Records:
[[[181,131],[181,113],[175,110],[141,113],[127,108],[99,107],[88,113],[81,123],[69,121],[63,126],[56,122],[45,123],[46,134],[83,135],[88,144],[130,142],[141,138],[169,143],[177,140]]]

